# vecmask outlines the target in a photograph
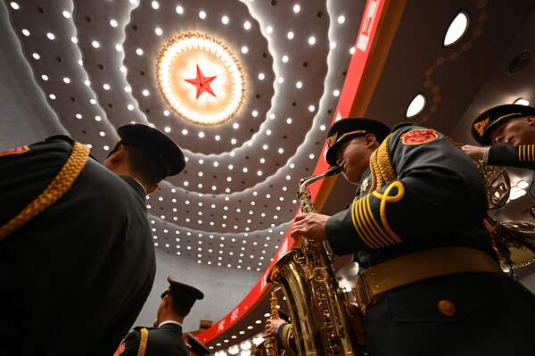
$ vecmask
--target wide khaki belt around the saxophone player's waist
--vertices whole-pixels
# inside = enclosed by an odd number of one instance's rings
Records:
[[[378,302],[378,296],[399,286],[432,277],[466,272],[503,273],[487,253],[469,247],[441,247],[409,253],[366,269],[353,294],[362,314]]]

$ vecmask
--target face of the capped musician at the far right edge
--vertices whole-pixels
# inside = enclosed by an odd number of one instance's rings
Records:
[[[508,120],[490,132],[494,145],[535,144],[535,116]]]

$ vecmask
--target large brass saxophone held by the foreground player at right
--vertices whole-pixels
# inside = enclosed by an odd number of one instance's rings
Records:
[[[300,180],[298,198],[302,212],[316,212],[308,186],[340,172]],[[361,354],[355,341],[342,288],[334,276],[333,253],[324,243],[304,238],[302,249],[292,249],[268,272],[268,283],[281,286],[292,315],[293,335],[300,355]]]

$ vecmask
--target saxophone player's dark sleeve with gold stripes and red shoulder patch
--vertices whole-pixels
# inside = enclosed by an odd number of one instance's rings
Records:
[[[386,183],[372,186],[368,195],[355,198],[348,209],[327,220],[326,236],[334,253],[421,241],[452,225],[462,228],[483,218],[487,202],[481,174],[440,133],[399,128],[385,152],[391,157],[390,174],[389,164],[381,167],[390,176]],[[383,163],[389,159],[386,153],[376,157]]]

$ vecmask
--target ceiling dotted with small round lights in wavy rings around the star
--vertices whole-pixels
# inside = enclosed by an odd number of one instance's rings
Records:
[[[128,122],[160,128],[183,148],[185,171],[147,200],[156,248],[260,271],[296,212],[299,179],[312,173],[321,153],[355,51],[359,21],[349,21],[350,14],[363,6],[353,0],[20,0],[6,7],[36,85],[95,157],[109,153],[116,128]],[[216,38],[242,66],[243,102],[232,120],[184,120],[161,95],[158,54],[185,33]],[[216,77],[210,88],[219,95],[222,74],[198,64],[205,80]],[[198,78],[192,62],[180,79]],[[196,99],[194,84],[180,84]],[[199,99],[205,98],[214,96],[203,91]]]

